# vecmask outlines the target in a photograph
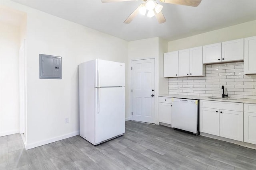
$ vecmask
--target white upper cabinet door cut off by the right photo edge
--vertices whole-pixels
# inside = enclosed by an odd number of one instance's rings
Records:
[[[244,74],[256,74],[256,36],[244,39]]]

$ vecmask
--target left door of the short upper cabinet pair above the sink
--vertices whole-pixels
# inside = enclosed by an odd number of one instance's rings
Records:
[[[203,46],[203,63],[221,62],[221,43]]]

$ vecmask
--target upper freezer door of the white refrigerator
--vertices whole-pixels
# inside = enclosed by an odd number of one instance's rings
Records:
[[[95,87],[124,87],[124,63],[96,59]]]

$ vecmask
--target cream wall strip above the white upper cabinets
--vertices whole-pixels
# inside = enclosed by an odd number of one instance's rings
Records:
[[[186,37],[183,39],[169,41],[168,51],[170,52],[188,49],[202,45],[230,41],[233,39],[251,37],[254,35],[256,35],[256,20],[194,35],[191,37]]]

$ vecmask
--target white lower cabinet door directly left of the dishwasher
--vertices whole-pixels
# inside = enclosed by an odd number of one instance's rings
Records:
[[[158,103],[159,122],[172,124],[172,104]]]

